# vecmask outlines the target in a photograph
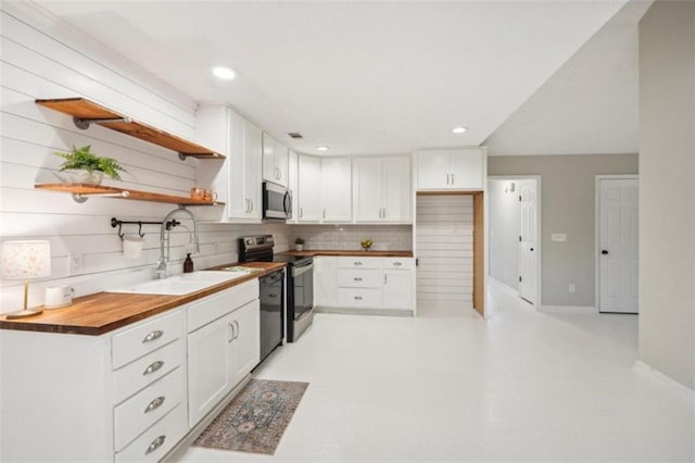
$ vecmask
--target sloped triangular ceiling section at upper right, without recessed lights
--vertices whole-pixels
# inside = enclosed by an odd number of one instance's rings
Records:
[[[650,4],[608,21],[485,140],[490,154],[637,152],[637,23]]]

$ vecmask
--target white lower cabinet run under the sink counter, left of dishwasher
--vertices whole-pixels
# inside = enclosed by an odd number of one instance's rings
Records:
[[[258,363],[258,281],[101,336],[3,329],[0,355],[0,461],[156,462]]]

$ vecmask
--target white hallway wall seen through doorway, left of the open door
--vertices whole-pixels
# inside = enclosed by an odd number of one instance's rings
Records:
[[[514,183],[515,190],[510,191]],[[519,180],[489,180],[488,215],[490,276],[517,289],[519,286]]]

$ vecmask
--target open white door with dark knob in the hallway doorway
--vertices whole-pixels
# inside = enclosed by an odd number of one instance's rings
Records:
[[[538,292],[538,217],[535,180],[519,185],[519,297],[535,304]]]

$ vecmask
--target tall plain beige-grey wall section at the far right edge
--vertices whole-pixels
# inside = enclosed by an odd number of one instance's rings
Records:
[[[695,3],[640,23],[640,360],[695,389]]]

